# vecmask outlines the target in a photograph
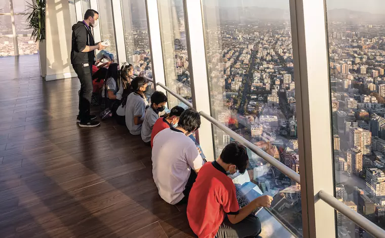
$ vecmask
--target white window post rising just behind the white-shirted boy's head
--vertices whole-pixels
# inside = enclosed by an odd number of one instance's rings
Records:
[[[193,105],[198,111],[210,112],[201,1],[184,0],[183,7]],[[212,126],[209,121],[202,120],[198,138],[207,160],[214,160]]]

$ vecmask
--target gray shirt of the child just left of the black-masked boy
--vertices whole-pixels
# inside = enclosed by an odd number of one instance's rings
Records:
[[[126,116],[126,126],[130,131],[131,135],[140,135],[142,124],[135,125],[134,117],[141,116],[141,120],[144,119],[144,113],[148,106],[148,101],[137,93],[131,93],[127,97],[125,116]],[[119,115],[119,114],[118,114]]]

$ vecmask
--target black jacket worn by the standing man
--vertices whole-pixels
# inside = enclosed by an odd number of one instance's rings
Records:
[[[71,64],[94,64],[94,51],[82,52],[86,46],[94,45],[90,26],[87,26],[83,21],[74,24],[72,26]]]

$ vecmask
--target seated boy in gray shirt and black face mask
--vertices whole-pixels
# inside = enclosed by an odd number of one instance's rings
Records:
[[[141,136],[144,143],[150,145],[152,127],[159,118],[159,112],[165,110],[167,97],[160,91],[155,91],[151,95],[151,106],[146,110],[142,124]]]

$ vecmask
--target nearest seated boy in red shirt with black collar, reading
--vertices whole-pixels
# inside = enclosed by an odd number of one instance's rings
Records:
[[[244,173],[249,157],[246,148],[232,142],[219,158],[203,165],[191,188],[187,219],[199,238],[256,237],[261,232],[259,219],[251,214],[258,207],[270,207],[273,197],[264,195],[239,208],[235,185],[227,173]]]

